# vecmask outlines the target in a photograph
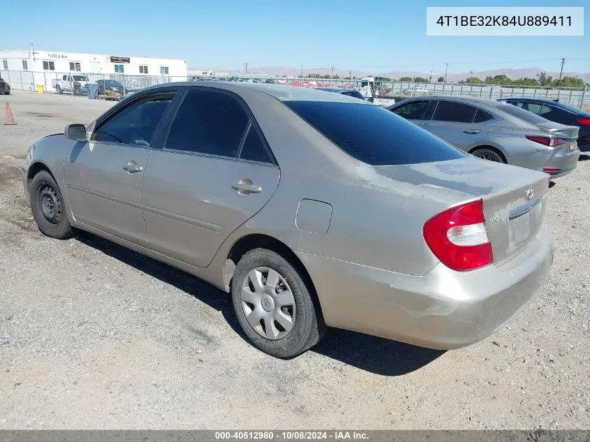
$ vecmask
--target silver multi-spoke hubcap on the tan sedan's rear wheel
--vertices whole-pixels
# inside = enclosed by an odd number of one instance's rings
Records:
[[[242,309],[260,336],[282,339],[295,323],[295,298],[287,281],[276,270],[256,267],[242,282]]]

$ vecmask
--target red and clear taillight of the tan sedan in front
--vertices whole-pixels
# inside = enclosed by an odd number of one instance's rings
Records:
[[[473,270],[492,264],[483,216],[483,201],[451,207],[429,219],[422,229],[426,244],[452,270]]]

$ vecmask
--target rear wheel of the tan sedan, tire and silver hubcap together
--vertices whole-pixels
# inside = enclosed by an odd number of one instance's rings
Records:
[[[239,325],[253,346],[276,358],[300,355],[316,345],[326,330],[319,304],[296,268],[274,251],[253,249],[242,256],[233,275],[232,301]],[[267,285],[267,278],[274,289]],[[277,304],[279,299],[282,306]],[[269,318],[270,326],[265,324]]]

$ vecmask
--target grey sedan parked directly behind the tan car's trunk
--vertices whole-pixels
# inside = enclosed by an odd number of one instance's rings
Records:
[[[487,98],[429,96],[390,106],[455,147],[482,159],[562,177],[576,168],[578,128]]]

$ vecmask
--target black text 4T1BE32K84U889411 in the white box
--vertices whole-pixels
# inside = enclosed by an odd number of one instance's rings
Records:
[[[441,26],[571,26],[571,15],[441,15]]]

